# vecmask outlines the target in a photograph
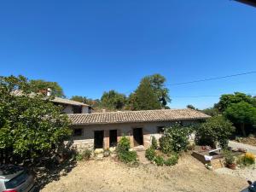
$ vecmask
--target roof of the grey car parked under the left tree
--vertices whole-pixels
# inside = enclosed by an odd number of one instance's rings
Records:
[[[21,172],[24,172],[24,168],[21,166],[0,166],[0,179],[10,180]]]

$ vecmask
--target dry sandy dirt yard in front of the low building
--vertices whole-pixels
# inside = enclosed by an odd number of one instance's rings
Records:
[[[42,192],[78,191],[241,191],[245,179],[208,171],[189,154],[173,167],[129,167],[111,159],[80,162],[67,176],[48,183]]]

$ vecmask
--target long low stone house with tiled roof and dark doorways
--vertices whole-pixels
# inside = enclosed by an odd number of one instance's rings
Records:
[[[72,121],[73,141],[78,149],[115,147],[123,135],[131,147],[148,148],[152,136],[160,138],[163,127],[180,122],[200,123],[207,114],[192,109],[160,109],[107,113],[68,114]]]

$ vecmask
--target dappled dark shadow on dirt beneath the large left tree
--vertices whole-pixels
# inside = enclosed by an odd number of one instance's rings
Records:
[[[36,186],[35,191],[40,191],[44,186],[53,181],[57,181],[60,177],[67,175],[71,172],[73,167],[77,165],[76,160],[64,160],[61,163],[56,163],[52,160],[44,162],[41,166],[33,168],[33,172],[36,174]]]

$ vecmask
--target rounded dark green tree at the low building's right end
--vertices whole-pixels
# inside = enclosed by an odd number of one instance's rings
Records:
[[[233,131],[235,131],[235,127],[232,123],[218,115],[199,125],[196,137],[200,144],[213,146],[215,142],[218,142],[223,148],[226,148]]]

